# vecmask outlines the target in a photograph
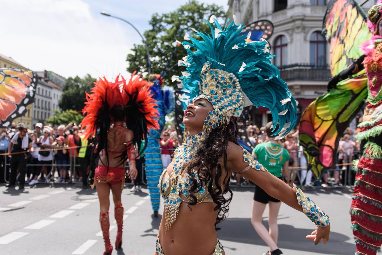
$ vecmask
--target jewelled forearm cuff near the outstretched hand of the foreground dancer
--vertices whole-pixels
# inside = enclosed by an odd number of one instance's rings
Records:
[[[329,216],[327,216],[316,204],[304,194],[304,192],[293,184],[296,188],[296,195],[298,204],[303,208],[304,214],[317,226],[326,227],[330,223]]]

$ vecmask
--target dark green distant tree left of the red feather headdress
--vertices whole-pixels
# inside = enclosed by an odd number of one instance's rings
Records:
[[[63,85],[63,93],[58,106],[63,110],[75,110],[77,112],[84,108],[86,102],[85,92],[90,92],[94,86],[95,78],[87,74],[84,78],[78,76],[69,77]]]

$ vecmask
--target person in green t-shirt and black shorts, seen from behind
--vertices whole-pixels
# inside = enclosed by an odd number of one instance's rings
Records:
[[[277,128],[275,128],[277,130]],[[289,166],[289,153],[281,146],[273,135],[272,132],[272,122],[267,123],[265,126],[265,133],[267,134],[268,142],[260,143],[256,145],[253,149],[252,156],[256,158],[268,172],[275,175],[276,177],[289,176],[288,166]],[[264,134],[263,134],[264,135]],[[268,224],[269,231],[261,223],[262,215],[265,210],[265,206],[269,203],[269,215]],[[263,255],[282,255],[280,249],[277,247],[278,239],[278,226],[277,226],[277,214],[280,210],[281,202],[276,198],[271,197],[265,193],[262,188],[256,186],[255,194],[253,198],[252,205],[252,216],[251,223],[255,228],[257,234],[264,240],[264,242],[269,246],[269,251]]]

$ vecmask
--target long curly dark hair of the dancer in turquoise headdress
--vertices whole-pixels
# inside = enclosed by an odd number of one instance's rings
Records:
[[[197,198],[194,193],[208,184],[208,192],[210,193],[212,200],[216,203],[214,210],[219,210],[215,221],[215,229],[221,221],[227,217],[229,210],[229,204],[232,199],[232,191],[230,189],[230,175],[227,170],[227,147],[228,141],[238,144],[236,141],[237,130],[237,118],[231,117],[227,128],[218,127],[212,130],[212,132],[204,141],[202,147],[193,156],[193,161],[186,167],[187,174],[189,175],[192,184],[189,186],[189,196],[193,200],[189,205],[196,205]],[[223,168],[219,163],[219,156],[223,158]],[[201,186],[197,185],[196,179],[192,176],[192,169],[198,168],[197,175],[201,182]],[[225,171],[223,175],[223,171]],[[225,196],[229,193],[230,195]]]

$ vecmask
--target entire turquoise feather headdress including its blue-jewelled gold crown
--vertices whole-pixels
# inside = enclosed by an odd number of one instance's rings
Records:
[[[228,20],[222,28],[213,15],[210,23],[212,36],[193,29],[199,41],[186,34],[189,41],[182,44],[188,56],[178,65],[186,66],[187,71],[173,76],[173,81],[182,81],[193,101],[202,97],[213,104],[215,110],[204,122],[211,128],[227,127],[231,116],[239,117],[245,106],[263,106],[272,113],[274,130],[279,125],[275,135],[285,128],[280,134],[285,136],[296,124],[297,105],[278,68],[270,62],[274,56],[269,45],[265,40],[246,42],[246,36],[239,36],[242,25],[234,21]]]

